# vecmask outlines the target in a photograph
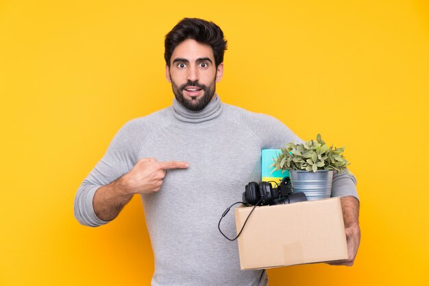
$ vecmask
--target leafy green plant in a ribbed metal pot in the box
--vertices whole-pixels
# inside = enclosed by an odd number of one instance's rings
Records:
[[[334,171],[350,174],[343,152],[344,147],[328,147],[317,134],[316,141],[286,144],[271,166],[273,171],[289,170],[293,190],[304,192],[308,200],[330,198]]]

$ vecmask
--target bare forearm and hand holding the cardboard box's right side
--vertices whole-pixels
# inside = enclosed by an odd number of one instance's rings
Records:
[[[341,208],[343,209],[349,258],[341,261],[332,261],[328,264],[352,266],[360,244],[359,200],[354,196],[344,196],[341,198]]]

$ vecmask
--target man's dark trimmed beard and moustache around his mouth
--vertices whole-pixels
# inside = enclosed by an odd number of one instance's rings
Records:
[[[197,88],[201,88],[201,90],[204,91],[203,96],[200,99],[185,99],[183,90],[188,86],[196,86]],[[188,82],[182,84],[181,86],[177,86],[174,81],[171,81],[171,87],[173,88],[173,94],[177,101],[182,103],[182,105],[187,109],[192,110],[193,112],[199,112],[200,110],[204,109],[212,100],[216,90],[216,78],[213,79],[209,86],[198,83],[198,81],[188,80]]]

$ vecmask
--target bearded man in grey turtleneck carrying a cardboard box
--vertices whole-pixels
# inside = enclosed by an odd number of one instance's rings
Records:
[[[140,194],[155,257],[152,285],[267,285],[265,271],[240,270],[235,242],[217,222],[244,186],[260,178],[260,151],[302,142],[282,122],[221,103],[223,32],[184,18],[165,38],[173,106],[127,122],[77,191],[75,216],[87,226],[116,218]],[[171,161],[171,160],[177,161]],[[352,265],[360,231],[354,177],[336,174]],[[229,219],[229,220],[228,220]],[[232,216],[223,222],[234,233]]]

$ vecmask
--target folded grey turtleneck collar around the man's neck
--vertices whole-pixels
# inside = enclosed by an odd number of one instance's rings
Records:
[[[177,120],[190,123],[199,123],[217,118],[222,112],[222,103],[219,96],[216,94],[215,98],[208,103],[208,105],[200,110],[194,112],[184,107],[177,99],[173,99],[173,114]]]

